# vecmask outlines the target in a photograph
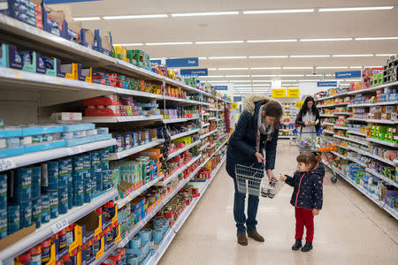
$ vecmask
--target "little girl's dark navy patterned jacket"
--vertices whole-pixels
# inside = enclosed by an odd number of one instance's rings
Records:
[[[296,171],[293,178],[287,176],[287,185],[294,187],[291,205],[309,209],[322,208],[323,176],[319,175],[321,172],[322,170],[317,166],[315,170],[306,173]]]

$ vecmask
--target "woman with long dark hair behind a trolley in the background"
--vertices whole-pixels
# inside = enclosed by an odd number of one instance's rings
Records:
[[[301,126],[300,133],[314,133],[313,135],[307,135],[309,137],[314,136],[320,129],[320,116],[317,105],[312,96],[308,96],[302,104],[302,109],[295,118],[295,124]],[[303,137],[305,137],[303,135]]]

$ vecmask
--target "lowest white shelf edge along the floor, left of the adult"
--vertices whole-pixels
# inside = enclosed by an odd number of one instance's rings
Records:
[[[213,178],[215,178],[216,174],[218,173],[218,170],[221,168],[221,165],[225,162],[226,156],[224,156],[221,159],[221,162],[218,163],[218,166],[213,172],[211,172],[211,177],[208,179],[204,186],[199,190],[199,193],[201,194],[199,197],[194,198],[191,201],[191,204],[184,210],[184,212],[180,215],[179,219],[174,223],[172,228],[165,234],[165,238],[162,240],[159,246],[157,246],[157,250],[155,254],[149,259],[148,265],[156,265],[158,261],[162,258],[163,254],[165,254],[165,251],[168,246],[172,243],[172,239],[174,239],[176,233],[180,231],[180,228],[182,225],[187,221],[188,216],[192,213],[193,209],[195,208],[197,202],[202,198],[203,193],[207,190],[207,187],[210,185],[211,181]]]

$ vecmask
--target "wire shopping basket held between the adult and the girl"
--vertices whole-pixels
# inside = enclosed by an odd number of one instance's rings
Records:
[[[281,180],[275,181],[272,179],[270,181],[266,174],[264,163],[260,169],[253,167],[253,165],[236,164],[235,176],[239,193],[248,193],[257,197],[261,194],[265,198],[272,199],[285,184]]]

